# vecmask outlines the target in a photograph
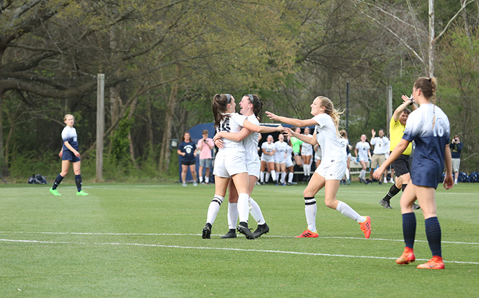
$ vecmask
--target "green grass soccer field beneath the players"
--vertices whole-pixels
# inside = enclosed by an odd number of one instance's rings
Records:
[[[399,197],[391,184],[341,186],[338,198],[372,218],[359,225],[318,201],[316,239],[306,228],[303,189],[258,186],[270,232],[223,240],[227,203],[212,239],[201,239],[213,185],[74,184],[0,187],[0,297],[478,297],[479,185],[436,193],[445,270],[420,270],[431,257],[416,211],[416,262],[402,253]],[[256,228],[250,217],[249,226]]]

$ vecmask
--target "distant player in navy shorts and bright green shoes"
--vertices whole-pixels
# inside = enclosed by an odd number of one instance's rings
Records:
[[[61,180],[65,178],[65,175],[68,174],[70,163],[72,163],[73,173],[75,174],[75,184],[77,184],[77,195],[88,195],[88,193],[81,190],[81,161],[78,151],[77,129],[73,127],[75,122],[74,116],[66,114],[65,117],[63,117],[63,122],[65,122],[66,126],[63,131],[61,131],[61,138],[63,139],[63,146],[59,153],[61,158],[61,173],[55,178],[55,182],[50,188],[50,193],[52,193],[52,195],[61,195],[57,191],[57,187],[61,183]]]

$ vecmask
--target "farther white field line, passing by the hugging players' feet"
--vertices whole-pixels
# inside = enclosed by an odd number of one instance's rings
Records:
[[[25,231],[0,231],[0,234],[48,234],[48,235],[93,235],[93,236],[201,236],[201,234],[179,234],[179,233],[81,233],[81,232],[25,232]],[[222,236],[223,234],[212,234],[212,236]],[[284,235],[263,235],[261,237],[278,237],[278,238],[292,238],[294,236]],[[365,240],[365,241],[392,241],[403,242],[402,239],[384,239],[384,238],[369,238],[368,240],[362,237],[335,237],[335,236],[320,236],[323,239],[349,239],[349,240]],[[427,242],[426,240],[415,240],[414,242]],[[441,241],[447,244],[471,244],[479,245],[479,242],[453,242]]]

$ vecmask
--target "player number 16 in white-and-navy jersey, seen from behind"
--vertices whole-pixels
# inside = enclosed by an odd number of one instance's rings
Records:
[[[432,258],[421,269],[443,269],[441,249],[441,229],[436,211],[436,187],[440,183],[442,171],[446,167],[444,180],[445,189],[453,187],[451,149],[449,148],[449,119],[436,107],[436,78],[421,77],[416,79],[413,94],[408,98],[420,105],[407,119],[402,139],[391,152],[389,158],[374,171],[374,178],[380,178],[386,167],[398,158],[409,145],[416,143],[411,164],[411,180],[402,192],[400,199],[402,213],[402,235],[405,249],[396,263],[409,264],[414,262],[414,240],[416,237],[416,215],[413,204],[418,200],[425,218],[427,242]],[[414,98],[414,99],[413,99]]]

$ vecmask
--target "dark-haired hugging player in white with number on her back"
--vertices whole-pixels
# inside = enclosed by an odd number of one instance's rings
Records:
[[[242,127],[260,132],[262,127],[250,123],[246,116],[235,113],[236,104],[230,94],[216,94],[212,100],[215,129],[218,132],[238,132]],[[264,127],[265,132],[276,131],[274,127]],[[270,129],[268,131],[268,129]],[[254,239],[248,228],[249,217],[249,174],[246,168],[245,147],[238,140],[223,139],[223,147],[216,153],[213,174],[215,176],[215,195],[208,207],[207,220],[203,228],[203,239],[209,239],[212,224],[226,195],[226,190],[232,178],[238,193],[237,210],[240,223],[238,232],[247,239]]]

